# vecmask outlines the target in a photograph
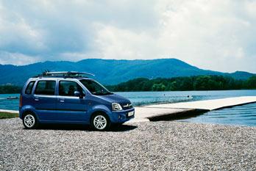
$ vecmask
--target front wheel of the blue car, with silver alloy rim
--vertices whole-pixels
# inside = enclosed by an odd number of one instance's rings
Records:
[[[110,129],[110,119],[107,114],[96,113],[90,120],[90,126],[96,131],[107,131]]]

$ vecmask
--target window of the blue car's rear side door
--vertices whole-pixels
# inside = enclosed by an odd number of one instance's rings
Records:
[[[56,81],[38,81],[35,88],[36,95],[54,95]]]

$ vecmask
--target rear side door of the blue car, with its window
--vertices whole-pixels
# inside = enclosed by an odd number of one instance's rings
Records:
[[[34,106],[40,121],[58,120],[56,112],[56,81],[40,80],[34,92]]]

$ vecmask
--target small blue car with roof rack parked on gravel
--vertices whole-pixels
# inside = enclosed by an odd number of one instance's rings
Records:
[[[127,98],[108,91],[88,75],[92,74],[46,72],[26,81],[19,105],[25,128],[36,128],[40,123],[72,123],[105,131],[113,123],[135,117]]]

